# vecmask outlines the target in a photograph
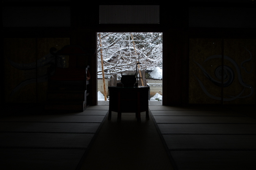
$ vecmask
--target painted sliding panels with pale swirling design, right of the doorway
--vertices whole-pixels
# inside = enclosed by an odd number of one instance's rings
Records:
[[[255,45],[255,39],[190,39],[189,103],[253,104]]]

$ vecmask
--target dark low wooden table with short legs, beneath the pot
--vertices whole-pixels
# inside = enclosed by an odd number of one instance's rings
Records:
[[[109,116],[111,112],[117,112],[117,121],[121,121],[121,113],[136,113],[138,122],[141,122],[140,112],[148,115],[148,91],[149,87],[118,87],[109,86]]]

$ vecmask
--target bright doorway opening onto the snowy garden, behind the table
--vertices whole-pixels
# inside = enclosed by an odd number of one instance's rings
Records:
[[[162,105],[162,44],[159,32],[97,33],[98,105],[108,105],[108,86],[131,74],[140,77],[138,86],[150,87],[149,103]]]

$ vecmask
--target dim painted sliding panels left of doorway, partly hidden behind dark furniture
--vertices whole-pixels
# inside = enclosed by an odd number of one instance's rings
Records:
[[[69,38],[5,38],[4,43],[5,102],[45,101],[47,70],[54,64],[49,50],[68,45]]]

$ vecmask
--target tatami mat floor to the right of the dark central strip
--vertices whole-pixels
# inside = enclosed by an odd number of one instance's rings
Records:
[[[175,169],[255,169],[255,106],[149,108]]]

